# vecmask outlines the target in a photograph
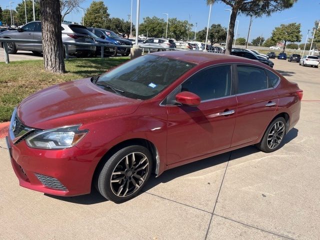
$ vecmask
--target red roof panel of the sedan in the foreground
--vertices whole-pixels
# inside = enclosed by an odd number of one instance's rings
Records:
[[[195,64],[200,64],[207,61],[214,61],[214,63],[239,62],[239,63],[256,64],[263,67],[266,66],[265,64],[260,63],[256,60],[251,60],[251,59],[240,57],[240,56],[211,53],[211,52],[205,52],[205,51],[193,52],[193,51],[174,50],[174,51],[158,51],[150,54],[179,59],[182,61],[192,62]]]

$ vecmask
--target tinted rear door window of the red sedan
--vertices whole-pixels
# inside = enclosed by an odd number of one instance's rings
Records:
[[[265,72],[252,66],[237,66],[238,93],[257,91],[268,88]]]

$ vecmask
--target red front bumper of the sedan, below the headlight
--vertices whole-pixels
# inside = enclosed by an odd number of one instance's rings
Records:
[[[20,186],[61,196],[90,192],[99,149],[36,149],[25,140],[13,144],[10,137],[6,142]]]

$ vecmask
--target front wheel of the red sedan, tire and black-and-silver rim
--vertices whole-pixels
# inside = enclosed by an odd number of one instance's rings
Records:
[[[152,156],[140,145],[131,145],[116,151],[104,164],[97,177],[97,190],[114,202],[135,197],[152,171]]]

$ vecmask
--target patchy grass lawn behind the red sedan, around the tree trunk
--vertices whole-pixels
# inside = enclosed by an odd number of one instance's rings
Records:
[[[129,57],[76,58],[65,60],[65,74],[43,69],[42,60],[0,62],[0,122],[10,120],[13,108],[26,96],[45,87],[74,79],[95,76]]]

